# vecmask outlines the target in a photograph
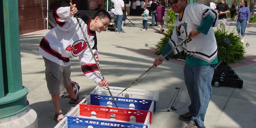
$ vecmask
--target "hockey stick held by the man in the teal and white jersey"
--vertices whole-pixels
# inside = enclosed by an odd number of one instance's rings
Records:
[[[166,53],[166,55],[164,55],[161,60],[163,60],[164,58],[166,58],[167,55],[171,54],[172,51],[174,51],[177,47],[179,47],[181,44],[184,43],[184,41],[187,41],[190,38],[190,35],[187,36],[185,39],[183,39],[182,41],[180,41],[179,44],[177,44],[174,48],[172,48],[169,52]],[[153,69],[155,67],[155,65],[152,65],[150,68],[148,68],[148,70],[146,70],[144,73],[142,73],[137,79],[135,79],[133,82],[131,82],[131,84],[129,84],[127,87],[125,87],[124,90],[122,90],[122,92],[124,92],[126,89],[128,89],[129,87],[131,87],[132,84],[134,84],[137,80],[139,80],[142,76],[144,76],[146,73],[148,73],[148,71],[150,71],[151,69]],[[122,93],[121,92],[121,93]],[[119,93],[117,96],[119,96],[121,93]],[[116,96],[116,97],[117,97]]]

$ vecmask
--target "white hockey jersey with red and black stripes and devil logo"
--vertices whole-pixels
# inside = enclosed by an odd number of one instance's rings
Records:
[[[87,15],[77,14],[86,38],[98,61],[96,32],[89,29],[91,20]],[[70,15],[70,7],[55,9],[53,17],[58,26],[51,29],[41,40],[38,52],[61,66],[69,66],[70,58],[79,57],[83,73],[96,83],[102,80],[76,17]]]

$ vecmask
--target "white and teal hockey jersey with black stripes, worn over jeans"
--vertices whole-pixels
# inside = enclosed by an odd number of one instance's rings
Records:
[[[193,3],[186,6],[183,12],[177,16],[173,29],[173,35],[166,44],[161,55],[166,55],[176,44],[185,39],[189,32],[198,30],[200,34],[192,37],[182,46],[177,47],[171,55],[185,50],[186,65],[217,64],[217,43],[212,27],[218,26],[218,13],[201,3]],[[170,55],[169,55],[170,56]],[[166,57],[168,60],[169,56]]]

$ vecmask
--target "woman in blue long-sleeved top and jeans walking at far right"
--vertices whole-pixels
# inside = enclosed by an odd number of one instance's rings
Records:
[[[242,0],[241,6],[238,12],[239,15],[238,15],[237,23],[236,23],[237,32],[239,37],[241,37],[242,42],[244,42],[246,25],[250,21],[250,9],[247,6],[248,6],[247,0]]]

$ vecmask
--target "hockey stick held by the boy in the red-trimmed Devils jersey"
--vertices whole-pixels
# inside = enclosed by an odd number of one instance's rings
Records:
[[[71,9],[73,8],[72,0],[70,0],[70,7],[71,7]],[[76,20],[77,20],[77,22],[78,22],[78,24],[79,24],[79,27],[80,27],[80,29],[81,29],[83,35],[84,35],[84,39],[85,39],[85,41],[86,41],[86,44],[87,44],[88,48],[90,49],[90,52],[91,52],[91,54],[92,54],[92,56],[93,56],[93,59],[94,59],[96,65],[97,65],[97,67],[98,67],[98,69],[99,69],[99,73],[100,73],[100,75],[102,76],[102,79],[105,79],[104,76],[103,76],[103,74],[102,74],[102,72],[101,72],[101,70],[100,70],[100,68],[99,68],[98,62],[97,62],[95,56],[93,55],[93,50],[92,50],[92,48],[90,47],[89,41],[87,40],[87,38],[86,38],[86,36],[85,36],[84,29],[82,28],[81,23],[80,23],[80,21],[79,21],[77,15],[75,14],[74,16],[76,17]],[[109,90],[108,87],[107,87],[107,89],[108,89],[108,92],[109,92],[109,94],[110,94],[110,96],[111,96],[111,99],[113,100],[113,102],[114,102],[115,105],[116,105],[116,101],[115,101],[115,99],[114,99],[112,93],[110,92],[110,90]],[[116,105],[116,108],[118,108],[117,105]]]

